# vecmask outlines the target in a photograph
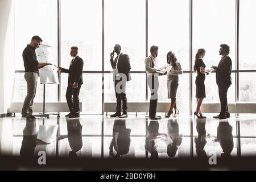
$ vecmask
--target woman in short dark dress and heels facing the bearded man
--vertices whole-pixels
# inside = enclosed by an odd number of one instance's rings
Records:
[[[196,53],[196,59],[195,59],[195,65],[194,65],[194,71],[197,72],[196,111],[194,112],[194,115],[196,115],[197,118],[205,118],[200,109],[200,106],[205,98],[205,86],[204,86],[205,74],[209,75],[209,70],[205,69],[205,64],[203,61],[204,55],[205,55],[205,49],[198,49]]]

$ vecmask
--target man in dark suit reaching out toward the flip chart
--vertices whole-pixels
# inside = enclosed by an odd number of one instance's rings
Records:
[[[58,67],[59,71],[68,73],[68,88],[66,92],[66,99],[70,113],[66,115],[69,118],[80,117],[79,108],[79,92],[82,83],[82,68],[84,67],[84,61],[77,55],[78,48],[76,46],[71,47],[70,55],[73,57],[69,69]],[[73,97],[72,97],[73,96]]]

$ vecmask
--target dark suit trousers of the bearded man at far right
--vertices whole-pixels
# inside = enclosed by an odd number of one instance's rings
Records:
[[[222,114],[225,114],[226,112],[229,111],[228,98],[227,98],[229,86],[230,86],[230,84],[228,84],[228,85],[218,84],[218,96],[220,97],[221,113]]]

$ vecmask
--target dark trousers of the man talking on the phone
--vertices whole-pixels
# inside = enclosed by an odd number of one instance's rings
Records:
[[[126,81],[120,86],[118,84],[120,80],[115,80],[115,97],[117,98],[117,113],[121,112],[121,104],[123,102],[123,112],[127,112],[127,98],[126,98]],[[118,84],[118,85],[117,85]],[[122,89],[122,92],[117,92],[118,89]]]

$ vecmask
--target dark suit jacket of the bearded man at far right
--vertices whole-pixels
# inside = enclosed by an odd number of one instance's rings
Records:
[[[222,57],[216,70],[217,85],[230,85],[232,72],[232,60],[228,55]]]

